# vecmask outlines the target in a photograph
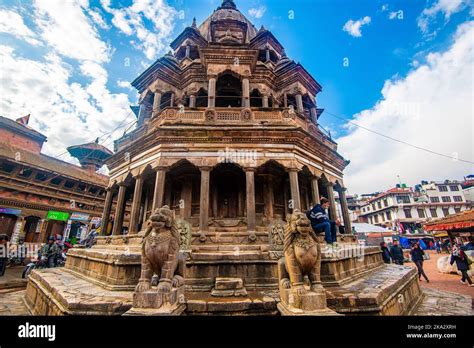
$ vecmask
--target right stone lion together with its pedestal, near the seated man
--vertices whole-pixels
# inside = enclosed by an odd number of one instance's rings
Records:
[[[282,315],[338,315],[327,308],[321,285],[321,247],[306,215],[295,209],[284,236],[284,257],[278,263]],[[309,285],[304,284],[307,276]]]

